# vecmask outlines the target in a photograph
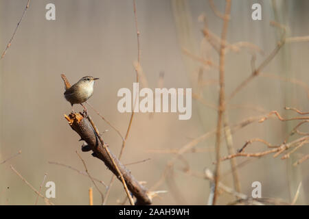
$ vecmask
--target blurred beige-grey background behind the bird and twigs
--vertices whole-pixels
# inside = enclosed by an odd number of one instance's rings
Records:
[[[54,3],[56,20],[45,19],[45,5]],[[167,190],[153,199],[156,205],[206,205],[209,181],[202,175],[205,168],[214,171],[214,135],[194,145],[196,151],[184,153],[176,159],[169,177],[160,181],[166,165],[174,152],[186,144],[213,131],[217,123],[218,68],[198,61],[211,60],[218,66],[218,53],[205,40],[205,25],[220,36],[222,19],[211,9],[206,0],[137,0],[137,23],[140,31],[141,67],[149,88],[192,88],[192,118],[179,120],[175,113],[137,113],[124,149],[122,162],[146,187]],[[253,21],[251,6],[262,5],[262,21]],[[5,49],[21,17],[27,1],[0,1],[0,49]],[[225,1],[215,1],[216,8],[224,12]],[[286,26],[286,36],[308,36],[309,1],[241,1],[231,3],[231,20],[227,42],[250,42],[256,66],[275,49],[281,31],[271,27],[271,21]],[[284,107],[309,111],[309,42],[286,43],[271,62],[231,99],[227,107],[230,125],[247,118],[261,116],[277,110],[283,117],[298,116]],[[246,47],[226,54],[226,96],[251,74],[253,52]],[[89,103],[108,119],[124,136],[130,113],[117,111],[119,88],[133,90],[137,61],[137,33],[133,1],[45,1],[32,0],[23,23],[14,37],[12,46],[0,60],[0,205],[34,205],[36,194],[11,170],[14,166],[27,181],[39,189],[45,173],[47,181],[56,183],[56,205],[88,205],[88,190],[93,187],[94,204],[100,205],[100,194],[88,177],[78,172],[50,164],[58,162],[84,172],[80,153],[91,175],[108,184],[111,172],[104,164],[82,153],[82,142],[71,130],[64,114],[71,112],[71,105],[63,97],[61,73],[73,84],[83,76],[100,77],[95,83]],[[163,77],[159,77],[159,75]],[[82,110],[78,105],[76,110]],[[91,108],[95,124],[103,134],[111,151],[118,155],[122,139]],[[297,121],[282,122],[277,119],[257,121],[233,133],[233,148],[240,149],[247,140],[261,138],[277,145],[297,125]],[[308,124],[299,130],[308,132]],[[224,133],[222,133],[224,135]],[[291,140],[297,136],[292,136]],[[265,151],[266,146],[257,142],[248,146],[247,152]],[[237,157],[241,192],[251,196],[254,181],[262,184],[262,197],[279,198],[290,203],[302,182],[297,204],[309,203],[309,162],[292,164],[308,154],[304,145],[289,159],[267,155],[256,158]],[[224,138],[222,157],[228,155]],[[183,168],[186,168],[186,171]],[[188,171],[190,170],[190,171]],[[193,175],[192,172],[198,173]],[[229,161],[222,162],[221,182],[234,188]],[[160,182],[159,184],[157,184]],[[100,190],[106,188],[98,183]],[[47,188],[43,186],[42,194]],[[113,183],[107,205],[118,205],[126,194],[119,181]],[[222,192],[218,204],[226,205],[235,197]],[[42,198],[39,205],[44,205]],[[126,202],[128,204],[128,202]]]

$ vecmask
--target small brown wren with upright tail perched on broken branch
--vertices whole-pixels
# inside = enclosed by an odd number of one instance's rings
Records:
[[[72,112],[74,112],[74,104],[80,104],[84,107],[82,103],[92,96],[95,80],[99,79],[98,77],[85,76],[71,86],[65,75],[62,74],[61,77],[65,82],[65,99],[71,103]],[[86,107],[84,107],[84,110],[87,112]]]

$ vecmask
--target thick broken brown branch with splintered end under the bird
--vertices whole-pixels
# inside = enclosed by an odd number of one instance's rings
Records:
[[[113,164],[117,165],[120,172],[122,173],[122,177],[128,186],[128,190],[132,192],[132,194],[137,198],[136,205],[150,205],[151,200],[147,195],[147,190],[144,186],[140,185],[140,183],[130,174],[130,170],[126,169],[126,167],[119,162],[119,159],[115,157],[110,151],[109,154],[113,158],[109,157],[107,151],[104,149],[102,143],[100,142],[98,136],[95,134],[89,120],[84,118],[81,114],[69,114],[69,116],[65,116],[69,121],[69,125],[71,128],[80,135],[80,138],[87,142],[90,149],[93,151],[93,157],[97,157],[101,159],[102,162],[108,167],[109,170],[113,172],[113,174],[120,179],[119,173],[117,172],[117,168]],[[108,148],[106,148],[109,150]]]

